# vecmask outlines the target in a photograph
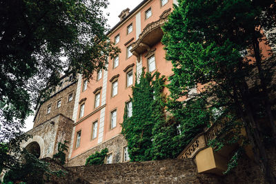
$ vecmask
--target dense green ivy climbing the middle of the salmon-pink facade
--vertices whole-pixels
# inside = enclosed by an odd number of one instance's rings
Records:
[[[132,87],[132,116],[128,117],[126,107],[121,132],[128,141],[131,161],[175,158],[183,149],[175,141],[175,121],[168,121],[165,114],[165,81],[159,72],[150,74],[143,68],[139,83],[136,80]]]

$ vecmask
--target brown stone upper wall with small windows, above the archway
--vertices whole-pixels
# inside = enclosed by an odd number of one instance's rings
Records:
[[[72,83],[68,88],[64,88],[57,94],[53,95],[48,101],[44,102],[34,119],[34,127],[40,125],[41,123],[48,121],[57,114],[63,114],[68,118],[72,119],[74,104],[75,104],[75,96],[77,90],[77,83]],[[72,101],[68,102],[68,94],[73,92],[73,99]],[[61,107],[57,108],[57,101],[61,99]],[[47,114],[47,108],[51,105],[51,112]]]

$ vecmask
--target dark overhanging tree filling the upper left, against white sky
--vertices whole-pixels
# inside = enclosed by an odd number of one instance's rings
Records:
[[[1,159],[19,150],[20,144],[12,140],[21,136],[32,104],[46,100],[50,87],[59,84],[61,72],[90,79],[105,68],[106,57],[119,52],[106,35],[101,8],[107,4],[107,0],[0,0],[0,143],[10,142]],[[3,169],[10,165],[7,160],[0,164]]]

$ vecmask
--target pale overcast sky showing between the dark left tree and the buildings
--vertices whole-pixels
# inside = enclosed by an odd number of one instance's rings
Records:
[[[130,9],[130,12],[139,5],[143,0],[109,0],[109,5],[106,10],[104,10],[104,13],[109,13],[109,16],[106,16],[108,19],[108,24],[110,25],[110,28],[113,28],[118,22],[119,22],[119,14],[122,10],[125,10],[126,8]],[[28,130],[32,129],[33,126],[33,120],[34,116],[28,116],[28,119],[26,119],[25,128],[23,129],[24,132],[27,132]]]

